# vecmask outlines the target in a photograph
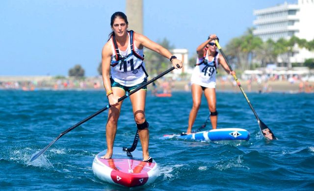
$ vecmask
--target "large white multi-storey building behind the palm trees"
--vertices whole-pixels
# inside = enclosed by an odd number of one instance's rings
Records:
[[[256,29],[253,34],[263,41],[280,38],[289,39],[293,35],[312,41],[314,39],[314,0],[298,0],[298,4],[284,4],[254,11]],[[305,59],[314,58],[314,52],[295,46],[291,53],[278,57],[280,66],[291,67],[291,63],[303,63]]]

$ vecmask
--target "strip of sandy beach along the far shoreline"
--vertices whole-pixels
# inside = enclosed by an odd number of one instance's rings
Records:
[[[162,92],[162,83],[169,83],[171,91],[190,91],[189,80],[158,79],[157,90]],[[270,81],[249,82],[239,79],[245,92],[287,92],[287,93],[314,93],[314,82]],[[151,85],[149,85],[149,89]],[[101,76],[76,79],[71,77],[56,78],[53,76],[0,76],[0,89],[2,90],[104,90]],[[220,92],[240,92],[235,80],[217,79],[216,90]]]

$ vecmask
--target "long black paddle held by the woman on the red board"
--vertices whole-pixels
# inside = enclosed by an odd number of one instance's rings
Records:
[[[178,68],[180,68],[179,65],[177,65]],[[150,83],[153,83],[155,80],[157,80],[158,78],[164,76],[165,74],[173,71],[175,69],[175,67],[172,67],[170,69],[168,69],[165,72],[162,72],[161,74],[157,75],[156,77],[154,77],[153,79],[149,80],[148,82],[146,82],[145,84],[141,85],[140,87],[136,88],[135,90],[131,91],[129,94],[127,93],[126,95],[120,97],[118,99],[118,102],[124,100],[125,98],[127,98],[128,96],[134,94],[135,92],[137,92],[138,90],[142,89],[144,86],[149,85]],[[79,121],[77,124],[73,125],[72,127],[68,128],[67,130],[63,131],[57,138],[55,138],[51,143],[49,143],[45,148],[43,148],[41,151],[39,151],[36,155],[34,155],[31,159],[30,162],[32,162],[33,160],[37,159],[41,154],[43,154],[43,152],[45,152],[54,142],[56,142],[58,139],[60,139],[63,135],[65,135],[66,133],[72,131],[73,129],[75,129],[76,127],[78,127],[79,125],[83,124],[84,122],[88,121],[89,119],[94,118],[95,116],[99,115],[100,113],[104,112],[106,109],[110,108],[111,106],[108,104],[106,107],[104,107],[103,109],[99,110],[98,112],[94,113],[93,115]],[[135,146],[136,147],[136,146]],[[135,148],[134,148],[135,149]]]

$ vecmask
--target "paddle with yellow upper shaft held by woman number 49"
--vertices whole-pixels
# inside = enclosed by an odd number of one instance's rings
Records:
[[[232,68],[231,68],[231,66],[230,66],[230,64],[229,64],[229,62],[228,62],[228,60],[227,60],[227,57],[226,57],[226,55],[224,54],[224,52],[222,51],[222,49],[221,49],[221,47],[220,47],[220,45],[219,45],[217,39],[215,40],[215,43],[216,43],[216,45],[217,45],[219,51],[221,52],[222,56],[225,58],[225,60],[226,60],[226,62],[227,62],[227,64],[228,64],[230,70],[232,71]],[[261,128],[261,131],[262,131],[263,136],[264,136],[266,139],[268,139],[268,140],[274,140],[274,139],[276,139],[276,137],[275,137],[275,135],[273,134],[273,132],[265,125],[265,123],[262,122],[262,120],[259,118],[259,116],[258,116],[257,113],[255,112],[255,110],[254,110],[254,108],[253,108],[253,106],[252,106],[252,104],[251,104],[249,98],[248,98],[247,95],[244,93],[244,90],[243,90],[243,88],[242,88],[242,86],[241,86],[239,80],[237,79],[237,77],[236,77],[235,75],[233,75],[233,76],[234,76],[235,81],[236,81],[237,85],[239,86],[239,88],[240,88],[242,94],[244,95],[244,97],[245,97],[247,103],[249,104],[250,108],[252,109],[252,111],[253,111],[253,113],[254,113],[256,119],[257,119],[257,122],[259,123],[259,126],[260,126],[260,128]]]

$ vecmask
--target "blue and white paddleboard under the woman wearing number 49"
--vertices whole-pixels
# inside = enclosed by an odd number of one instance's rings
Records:
[[[186,134],[164,135],[161,139],[172,138],[197,141],[231,141],[231,140],[248,141],[250,139],[250,133],[247,130],[240,128],[222,128],[212,129],[209,131],[195,132],[189,135]]]

